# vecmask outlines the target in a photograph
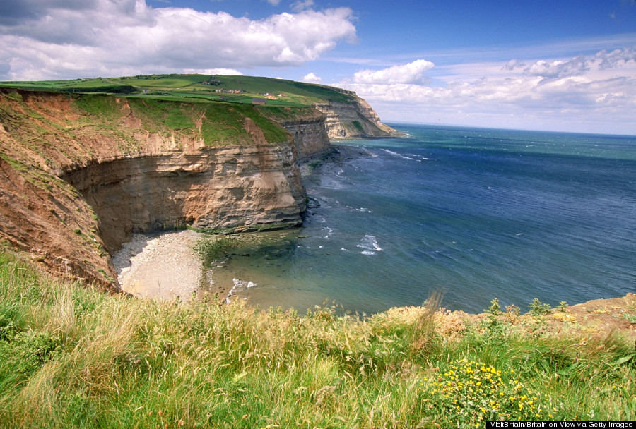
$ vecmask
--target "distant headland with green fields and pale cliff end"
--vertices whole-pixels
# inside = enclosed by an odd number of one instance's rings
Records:
[[[119,78],[0,82],[0,87],[74,95],[96,94],[126,99],[160,100],[223,106],[257,104],[261,113],[277,123],[319,114],[331,138],[387,137],[393,128],[383,124],[375,111],[355,92],[338,87],[255,76],[137,75]],[[266,104],[266,106],[261,106]],[[320,114],[319,114],[320,115]],[[179,121],[179,123],[184,123]]]

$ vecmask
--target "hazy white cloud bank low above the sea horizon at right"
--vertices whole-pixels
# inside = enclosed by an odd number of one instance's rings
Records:
[[[443,69],[440,85],[391,80],[391,67],[382,71],[384,82],[382,74],[362,71],[338,86],[367,99],[385,120],[636,135],[633,47]]]

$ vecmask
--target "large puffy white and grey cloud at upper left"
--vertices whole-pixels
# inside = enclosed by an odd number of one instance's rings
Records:
[[[0,78],[11,80],[298,66],[355,41],[349,8],[250,20],[145,0],[25,0],[6,12]]]

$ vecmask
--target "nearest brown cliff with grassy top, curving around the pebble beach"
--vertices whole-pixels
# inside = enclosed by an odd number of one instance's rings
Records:
[[[109,252],[131,231],[300,224],[296,157],[258,107],[0,89],[0,242],[118,290]]]

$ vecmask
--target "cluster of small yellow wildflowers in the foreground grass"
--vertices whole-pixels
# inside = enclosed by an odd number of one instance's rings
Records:
[[[475,361],[453,361],[430,380],[430,393],[442,413],[457,423],[537,420],[547,417],[541,394],[527,389],[514,371],[496,370]]]

